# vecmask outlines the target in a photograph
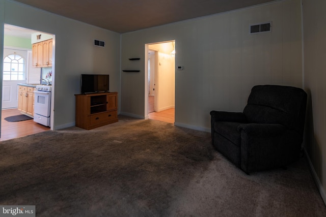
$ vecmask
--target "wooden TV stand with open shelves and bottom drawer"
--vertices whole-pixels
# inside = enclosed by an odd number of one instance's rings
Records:
[[[76,94],[76,127],[91,130],[118,121],[118,92]]]

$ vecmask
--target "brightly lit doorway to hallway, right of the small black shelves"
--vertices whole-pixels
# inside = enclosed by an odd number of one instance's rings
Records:
[[[175,120],[175,41],[148,44],[145,69],[147,116],[174,123]]]

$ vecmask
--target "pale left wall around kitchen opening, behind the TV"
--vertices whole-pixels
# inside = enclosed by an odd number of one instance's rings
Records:
[[[120,34],[13,1],[0,2],[0,33],[7,23],[56,36],[53,129],[74,126],[74,94],[80,93],[80,74],[110,74],[110,90],[120,90]],[[105,47],[93,46],[94,39],[105,41]]]

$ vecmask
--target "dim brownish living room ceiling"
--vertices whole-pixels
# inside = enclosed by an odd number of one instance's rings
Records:
[[[275,0],[15,0],[117,33],[232,11]]]

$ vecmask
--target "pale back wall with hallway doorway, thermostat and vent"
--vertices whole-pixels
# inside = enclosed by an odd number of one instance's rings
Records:
[[[249,34],[250,24],[273,22],[271,33]],[[302,87],[300,0],[285,0],[122,34],[121,67],[145,58],[145,44],[176,41],[175,124],[210,131],[211,110],[242,111],[252,86]],[[121,111],[145,116],[145,62],[121,74]]]

